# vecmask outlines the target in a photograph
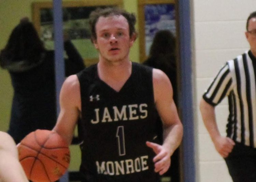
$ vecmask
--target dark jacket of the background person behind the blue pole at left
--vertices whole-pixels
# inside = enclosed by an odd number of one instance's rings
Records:
[[[70,41],[64,43],[65,75],[85,68],[83,59]],[[45,51],[33,65],[26,60],[6,61],[14,96],[8,133],[19,143],[36,129],[53,129],[56,120],[54,51]]]

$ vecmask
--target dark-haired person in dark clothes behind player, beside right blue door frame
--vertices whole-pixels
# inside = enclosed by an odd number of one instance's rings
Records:
[[[143,64],[162,70],[168,76],[173,88],[174,103],[179,108],[177,100],[176,40],[171,31],[160,30],[155,34],[149,56]],[[157,120],[158,137],[162,141],[163,128],[159,115]],[[171,176],[171,182],[179,182],[179,148],[172,154],[171,161],[171,167],[164,176]]]

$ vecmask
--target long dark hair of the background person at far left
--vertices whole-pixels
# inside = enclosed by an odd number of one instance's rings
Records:
[[[4,49],[0,52],[0,66],[11,62],[26,60],[29,63],[37,63],[44,52],[43,42],[28,18],[23,18],[13,29]]]

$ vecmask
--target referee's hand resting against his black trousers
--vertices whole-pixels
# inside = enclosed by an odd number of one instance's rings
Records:
[[[225,136],[219,136],[213,143],[216,150],[223,158],[228,157],[236,144],[232,139]]]

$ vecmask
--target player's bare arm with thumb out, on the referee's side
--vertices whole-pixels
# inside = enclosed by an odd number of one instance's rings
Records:
[[[153,86],[156,108],[163,124],[163,144],[147,142],[147,146],[155,151],[155,171],[162,175],[170,167],[170,157],[181,143],[183,126],[173,101],[171,82],[161,70],[153,69]]]

